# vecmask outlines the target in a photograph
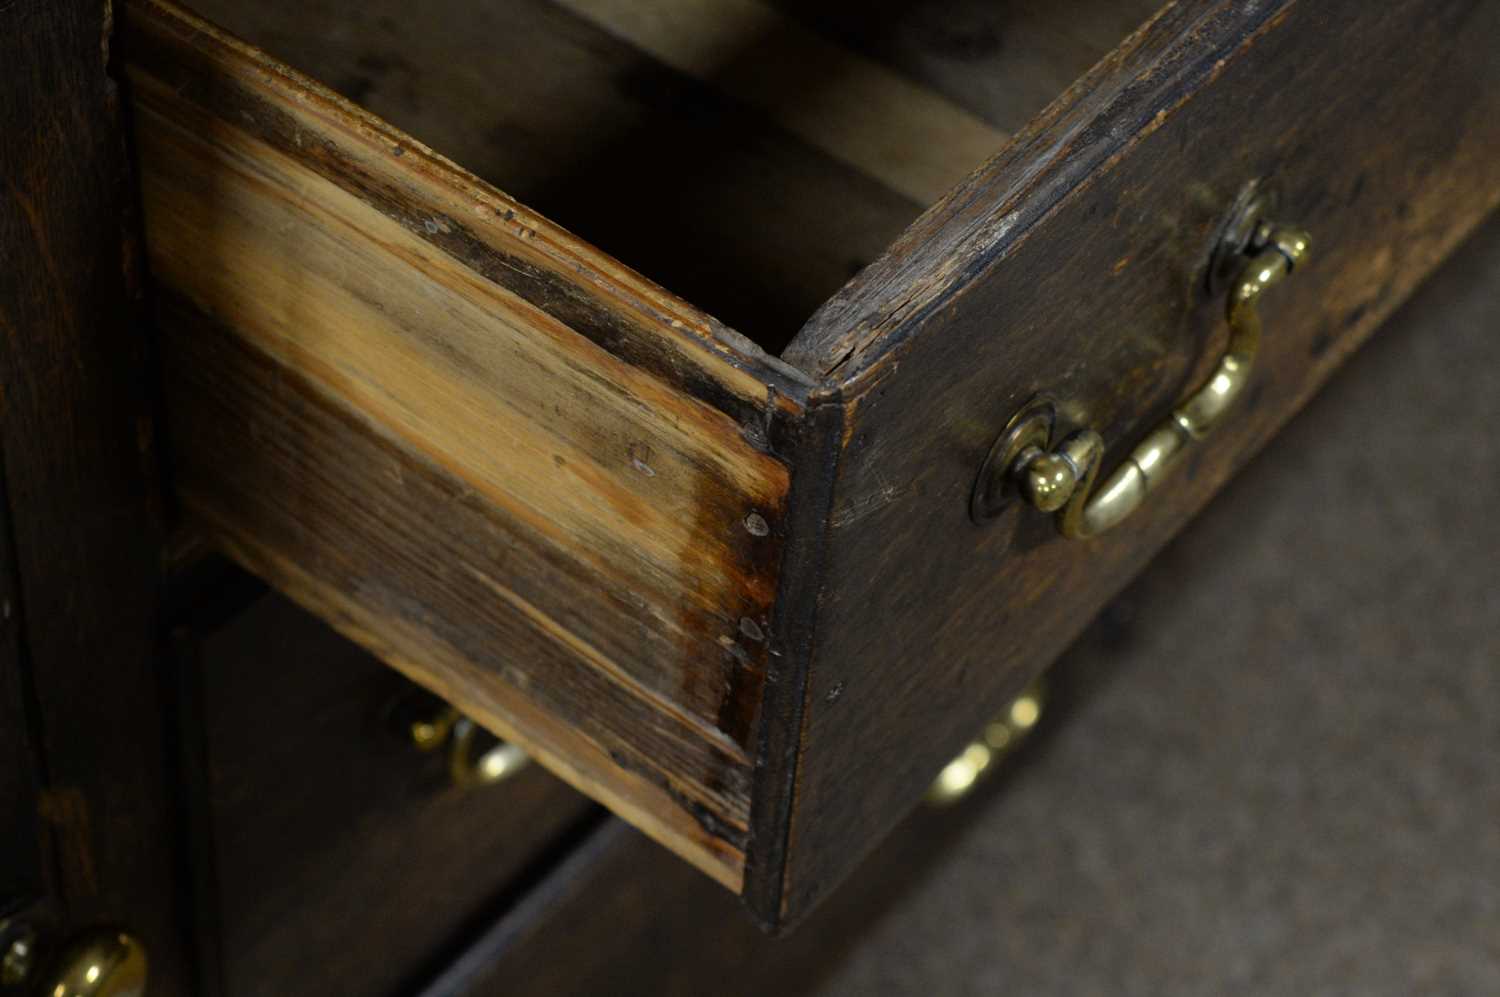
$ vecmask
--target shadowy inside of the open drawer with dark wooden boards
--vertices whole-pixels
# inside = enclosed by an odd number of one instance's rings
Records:
[[[194,0],[780,354],[1155,0]]]

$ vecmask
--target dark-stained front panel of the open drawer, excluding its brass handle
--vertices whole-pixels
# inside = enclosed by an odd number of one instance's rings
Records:
[[[792,354],[838,384],[844,421],[802,699],[766,705],[801,720],[800,765],[758,795],[795,796],[783,918],[1496,205],[1497,36],[1500,6],[1462,0],[1167,7],[814,316]],[[972,525],[980,462],[1035,393],[1113,457],[1212,363],[1203,265],[1257,177],[1316,256],[1266,301],[1240,411],[1113,534],[1066,541],[1018,507]]]

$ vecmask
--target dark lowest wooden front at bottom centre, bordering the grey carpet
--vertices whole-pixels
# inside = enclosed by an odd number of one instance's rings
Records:
[[[982,790],[988,798],[999,783]],[[789,937],[610,820],[518,898],[420,997],[807,994],[873,919],[921,883],[974,810],[915,814],[880,846],[880,876],[840,891]]]

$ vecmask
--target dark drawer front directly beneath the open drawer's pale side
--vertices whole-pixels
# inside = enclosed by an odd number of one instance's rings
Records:
[[[392,993],[590,820],[538,766],[456,786],[447,745],[410,741],[423,694],[279,595],[196,645],[198,876],[225,994]]]

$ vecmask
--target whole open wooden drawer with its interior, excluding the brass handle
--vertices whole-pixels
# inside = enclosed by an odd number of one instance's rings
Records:
[[[1497,3],[204,6],[406,132],[124,4],[183,510],[768,925],[1500,196]],[[1108,468],[1209,375],[1251,183],[1316,249],[1224,427],[976,523],[1035,396]]]

